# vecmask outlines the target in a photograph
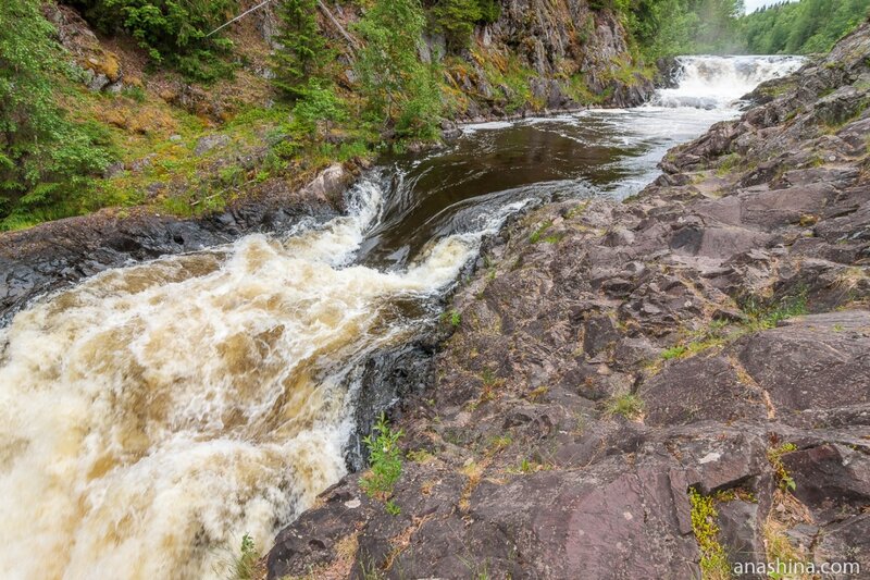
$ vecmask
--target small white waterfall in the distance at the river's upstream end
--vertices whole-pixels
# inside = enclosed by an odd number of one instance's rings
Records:
[[[678,57],[676,87],[659,89],[651,104],[724,109],[765,81],[793,73],[803,57]]]

